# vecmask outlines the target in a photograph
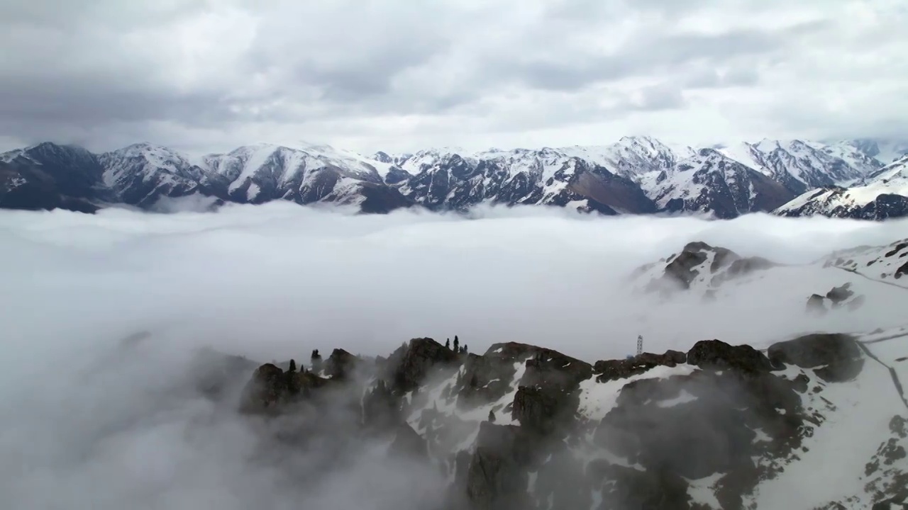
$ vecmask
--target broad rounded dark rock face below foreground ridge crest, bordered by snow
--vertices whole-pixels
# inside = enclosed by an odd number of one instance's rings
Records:
[[[755,441],[755,430],[769,441]],[[673,479],[726,473],[719,483],[735,486],[723,508],[735,508],[740,495],[768,475],[755,468],[752,457],[790,452],[800,445],[803,430],[804,412],[792,383],[768,372],[703,370],[628,383],[596,438],[647,473]],[[686,508],[678,492],[672,491],[679,497],[675,504]]]

